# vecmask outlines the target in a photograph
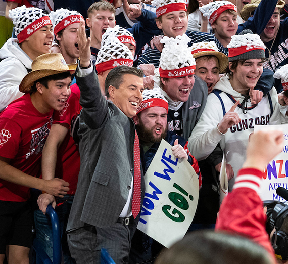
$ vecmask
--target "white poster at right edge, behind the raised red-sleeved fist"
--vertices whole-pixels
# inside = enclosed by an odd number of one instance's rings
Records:
[[[255,125],[254,132],[269,130],[281,130],[284,135],[284,147],[282,152],[269,162],[266,176],[260,186],[260,197],[263,201],[286,200],[276,194],[278,187],[288,189],[288,125]]]

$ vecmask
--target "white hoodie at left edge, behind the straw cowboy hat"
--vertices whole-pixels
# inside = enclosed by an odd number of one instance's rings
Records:
[[[21,50],[16,38],[9,38],[0,49],[0,111],[24,95],[19,84],[31,69],[32,60]]]

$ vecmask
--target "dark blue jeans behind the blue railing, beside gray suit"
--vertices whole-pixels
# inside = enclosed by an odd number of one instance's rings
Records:
[[[65,233],[73,198],[74,195],[72,196],[65,195],[64,198],[61,198],[57,201],[58,204],[62,202],[64,203],[55,208],[57,215],[59,217],[62,253],[65,264],[76,263],[75,260],[71,257]],[[41,243],[41,246],[43,247],[47,255],[53,261],[53,240],[52,240],[52,227],[50,217],[44,215],[42,211],[36,210],[34,211],[34,221],[35,221],[36,238],[39,240],[39,243]]]

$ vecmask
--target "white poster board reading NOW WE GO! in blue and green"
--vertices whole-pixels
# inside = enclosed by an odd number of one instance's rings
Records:
[[[199,181],[190,163],[161,144],[145,174],[145,198],[137,228],[165,247],[183,238],[193,221]]]

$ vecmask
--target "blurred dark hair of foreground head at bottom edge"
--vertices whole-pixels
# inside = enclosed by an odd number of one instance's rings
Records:
[[[248,238],[195,231],[159,255],[156,264],[271,264],[268,252]]]

